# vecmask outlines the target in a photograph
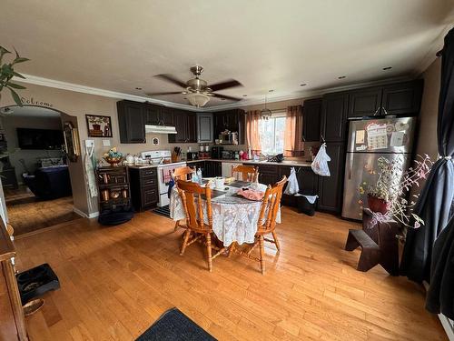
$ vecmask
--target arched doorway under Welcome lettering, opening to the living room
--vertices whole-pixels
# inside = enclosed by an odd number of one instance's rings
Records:
[[[74,213],[62,115],[34,105],[0,109],[0,176],[15,236],[81,217]]]

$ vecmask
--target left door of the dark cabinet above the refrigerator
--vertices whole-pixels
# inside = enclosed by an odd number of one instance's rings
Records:
[[[381,87],[350,91],[348,117],[380,115]]]

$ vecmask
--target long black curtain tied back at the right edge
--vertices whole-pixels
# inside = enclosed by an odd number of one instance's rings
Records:
[[[445,36],[441,59],[437,138],[439,160],[414,210],[424,225],[409,230],[400,271],[411,280],[430,283],[429,311],[454,318],[454,221],[449,223],[454,198],[454,29]]]

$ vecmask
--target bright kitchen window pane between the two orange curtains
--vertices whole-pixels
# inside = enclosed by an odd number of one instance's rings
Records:
[[[259,123],[259,134],[264,155],[283,153],[285,133],[285,112],[273,114],[268,120]]]

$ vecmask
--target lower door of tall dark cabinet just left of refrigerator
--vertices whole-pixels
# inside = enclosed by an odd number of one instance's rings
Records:
[[[342,208],[343,170],[345,164],[345,144],[327,143],[326,152],[331,157],[331,176],[319,177],[319,209],[340,213]]]

